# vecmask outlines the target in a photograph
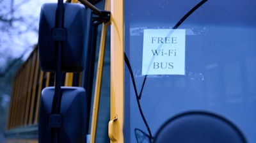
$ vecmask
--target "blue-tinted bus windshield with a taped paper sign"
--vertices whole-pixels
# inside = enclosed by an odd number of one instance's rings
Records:
[[[195,110],[256,142],[255,6],[125,1],[125,142],[152,142],[168,119]]]

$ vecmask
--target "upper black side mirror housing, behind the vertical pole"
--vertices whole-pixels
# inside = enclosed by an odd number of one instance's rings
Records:
[[[83,4],[64,3],[65,31],[61,31],[54,28],[56,8],[57,3],[46,3],[41,8],[38,37],[40,68],[44,72],[56,70],[55,44],[62,41],[61,72],[81,72],[86,61],[92,13]]]

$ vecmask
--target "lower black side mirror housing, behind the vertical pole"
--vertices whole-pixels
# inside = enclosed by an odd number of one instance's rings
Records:
[[[54,87],[42,91],[39,109],[39,142],[51,142],[51,126],[60,126],[60,142],[86,142],[86,93],[83,87],[61,87],[60,122],[49,121],[52,112]],[[55,118],[59,120],[59,118]],[[56,123],[56,122],[55,122]],[[54,137],[53,137],[54,138]]]

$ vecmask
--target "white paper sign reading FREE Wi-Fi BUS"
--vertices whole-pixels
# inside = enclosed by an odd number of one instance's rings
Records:
[[[185,29],[144,29],[142,75],[185,75]]]

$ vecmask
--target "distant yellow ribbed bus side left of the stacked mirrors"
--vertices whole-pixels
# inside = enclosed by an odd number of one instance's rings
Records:
[[[12,128],[24,128],[37,123],[40,91],[44,72],[39,70],[39,58],[37,46],[31,52],[27,61],[22,64],[12,84],[12,100],[8,115],[7,130]],[[38,79],[38,73],[40,79]],[[38,81],[39,80],[39,81]],[[38,84],[38,82],[40,82]],[[36,94],[36,91],[38,93]],[[37,96],[37,100],[35,100]],[[36,112],[34,114],[34,107]],[[35,119],[33,121],[33,116]]]

